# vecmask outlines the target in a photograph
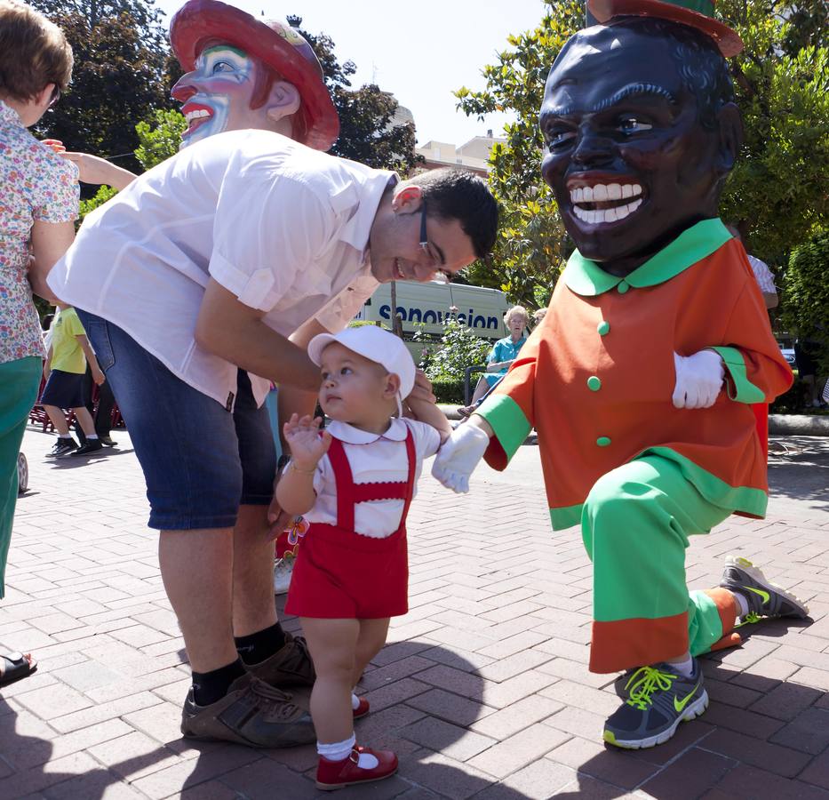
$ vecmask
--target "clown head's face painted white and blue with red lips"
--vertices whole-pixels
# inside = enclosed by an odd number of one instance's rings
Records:
[[[171,92],[187,117],[182,148],[214,133],[271,127],[267,103],[251,108],[259,69],[264,67],[258,60],[230,44],[217,44],[199,54],[195,69],[181,76]]]

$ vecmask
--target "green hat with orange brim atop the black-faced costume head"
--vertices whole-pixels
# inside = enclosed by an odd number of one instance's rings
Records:
[[[737,32],[713,19],[713,0],[587,0],[587,8],[599,22],[613,17],[655,17],[681,22],[711,36],[726,58],[743,49]]]

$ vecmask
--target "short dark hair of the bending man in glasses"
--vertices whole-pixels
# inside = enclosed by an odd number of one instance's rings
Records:
[[[479,259],[489,254],[498,234],[498,204],[485,180],[468,170],[444,167],[420,172],[404,183],[420,187],[428,216],[458,220]]]

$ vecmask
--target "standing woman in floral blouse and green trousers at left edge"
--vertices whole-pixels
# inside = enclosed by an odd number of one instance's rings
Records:
[[[72,50],[30,6],[0,0],[0,597],[17,499],[17,459],[37,398],[44,343],[32,290],[75,236],[77,168],[26,129],[60,99]],[[0,686],[31,674],[28,654],[0,654]]]

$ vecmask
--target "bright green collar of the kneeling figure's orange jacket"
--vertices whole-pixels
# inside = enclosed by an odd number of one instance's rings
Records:
[[[577,250],[570,256],[562,280],[570,291],[586,297],[602,294],[623,283],[625,291],[629,286],[635,289],[656,286],[707,258],[730,238],[731,235],[721,220],[702,220],[682,231],[671,244],[625,277],[610,275]]]

